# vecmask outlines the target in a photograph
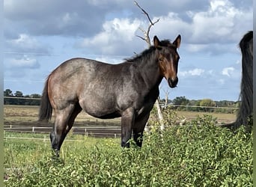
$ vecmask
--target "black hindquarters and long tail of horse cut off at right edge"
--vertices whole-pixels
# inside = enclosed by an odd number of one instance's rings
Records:
[[[240,104],[237,111],[237,119],[234,123],[225,124],[224,127],[237,129],[241,125],[246,126],[250,132],[252,127],[249,117],[252,117],[253,108],[253,31],[246,33],[239,43],[242,53],[242,79],[240,85]]]

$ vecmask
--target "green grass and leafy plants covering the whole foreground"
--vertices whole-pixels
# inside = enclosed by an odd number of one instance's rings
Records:
[[[57,161],[49,142],[5,141],[4,168],[13,168],[5,185],[252,186],[252,134],[218,127],[209,115],[150,132],[141,149],[122,149],[119,139],[82,139],[65,141]]]

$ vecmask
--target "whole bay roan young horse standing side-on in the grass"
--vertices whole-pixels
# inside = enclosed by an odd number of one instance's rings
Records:
[[[162,78],[171,88],[177,85],[180,40],[180,35],[173,43],[155,36],[153,46],[121,64],[73,58],[53,70],[43,89],[39,120],[48,121],[54,109],[50,138],[56,155],[82,109],[102,119],[121,117],[121,146],[129,147],[133,132],[141,147]]]

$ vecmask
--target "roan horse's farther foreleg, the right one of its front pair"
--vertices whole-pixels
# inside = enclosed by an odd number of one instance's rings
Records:
[[[138,147],[142,146],[142,141],[143,141],[142,136],[143,136],[144,128],[146,126],[149,116],[150,116],[150,112],[142,116],[136,117],[134,126],[132,126],[133,140],[135,141]]]

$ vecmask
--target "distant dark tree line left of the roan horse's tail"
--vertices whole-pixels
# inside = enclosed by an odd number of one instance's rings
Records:
[[[4,105],[40,105],[40,98],[41,95],[38,93],[23,96],[22,91],[4,91]]]

